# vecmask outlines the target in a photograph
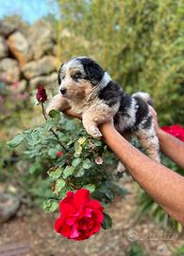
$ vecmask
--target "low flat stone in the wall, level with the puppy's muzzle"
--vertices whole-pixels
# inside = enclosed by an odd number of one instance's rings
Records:
[[[37,88],[39,85],[50,85],[51,87],[55,87],[57,84],[57,78],[57,72],[51,74],[50,76],[41,76],[33,78],[29,81],[30,90]]]

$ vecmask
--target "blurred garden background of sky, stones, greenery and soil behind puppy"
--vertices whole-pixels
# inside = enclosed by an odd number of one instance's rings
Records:
[[[95,59],[127,93],[150,93],[160,125],[184,125],[184,0],[0,0],[0,255],[184,255],[182,227],[130,177],[121,180],[129,194],[109,206],[113,228],[88,241],[56,235],[57,214],[42,212],[49,158],[35,165],[6,142],[43,122],[36,89],[55,93],[59,65],[76,55]]]

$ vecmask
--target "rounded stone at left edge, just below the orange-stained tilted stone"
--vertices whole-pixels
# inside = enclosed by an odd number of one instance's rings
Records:
[[[8,83],[17,82],[20,79],[19,63],[16,60],[5,58],[0,62],[0,81]]]

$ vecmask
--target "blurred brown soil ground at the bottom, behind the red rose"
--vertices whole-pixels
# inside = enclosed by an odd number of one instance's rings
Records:
[[[123,182],[131,193],[125,199],[116,198],[106,210],[113,219],[112,229],[102,229],[82,242],[70,241],[53,229],[58,213],[28,210],[24,216],[15,216],[2,225],[0,248],[14,243],[28,243],[28,256],[125,256],[132,242],[137,241],[147,255],[173,256],[174,249],[184,245],[184,234],[178,235],[173,230],[166,233],[153,220],[140,218],[135,183],[131,180]]]

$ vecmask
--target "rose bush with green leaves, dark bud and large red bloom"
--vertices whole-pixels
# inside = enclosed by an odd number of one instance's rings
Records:
[[[57,111],[46,116],[45,94],[38,89],[37,100],[45,122],[16,135],[8,146],[15,150],[22,144],[29,165],[26,180],[37,177],[26,189],[45,199],[46,212],[60,210],[55,229],[69,239],[86,239],[101,226],[111,227],[109,215],[102,210],[116,194],[124,196],[126,190],[118,186],[112,175],[117,159],[104,141],[89,136],[81,120],[68,119]]]

